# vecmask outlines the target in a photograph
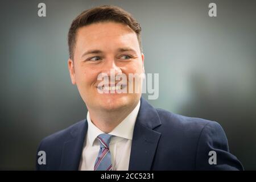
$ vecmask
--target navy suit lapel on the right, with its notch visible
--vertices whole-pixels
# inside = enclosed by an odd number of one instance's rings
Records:
[[[141,98],[141,106],[134,126],[129,170],[151,170],[160,133],[153,129],[161,125],[157,111]]]

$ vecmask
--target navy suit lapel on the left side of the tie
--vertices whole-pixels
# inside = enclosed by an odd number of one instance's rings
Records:
[[[78,170],[85,134],[88,129],[86,120],[79,123],[70,133],[70,138],[63,144],[60,170]]]

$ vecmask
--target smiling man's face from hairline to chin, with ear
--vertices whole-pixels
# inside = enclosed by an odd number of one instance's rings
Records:
[[[88,53],[90,52],[90,53]],[[144,73],[144,55],[139,49],[137,35],[129,26],[121,23],[94,23],[79,28],[76,36],[74,58],[68,60],[69,72],[73,84],[89,110],[118,110],[135,106],[141,98],[141,92],[128,93],[129,73]],[[115,75],[127,77],[127,93],[100,93],[98,75],[107,74],[109,85],[110,70]],[[133,79],[133,81],[135,81]],[[133,85],[138,84],[133,82]],[[135,88],[135,86],[134,86]]]

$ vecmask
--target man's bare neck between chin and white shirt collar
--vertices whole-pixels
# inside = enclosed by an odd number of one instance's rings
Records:
[[[138,101],[139,102],[139,101]],[[137,106],[135,105],[127,108],[122,108],[119,110],[109,111],[109,110],[89,110],[90,119],[92,123],[104,133],[110,133],[115,127],[119,125],[133,111]]]

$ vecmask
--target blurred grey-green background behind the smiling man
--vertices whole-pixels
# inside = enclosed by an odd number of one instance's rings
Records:
[[[46,18],[38,3],[46,3]],[[210,2],[217,17],[208,16]],[[155,107],[217,121],[256,169],[256,1],[1,1],[0,169],[35,168],[40,140],[86,117],[71,84],[67,33],[81,11],[117,5],[141,23]],[[143,94],[147,98],[147,94]]]

